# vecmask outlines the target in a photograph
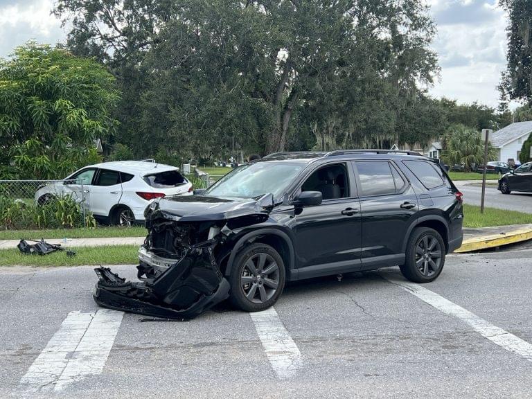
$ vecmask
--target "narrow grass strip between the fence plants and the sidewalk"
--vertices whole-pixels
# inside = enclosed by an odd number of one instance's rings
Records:
[[[1,230],[0,240],[40,240],[41,238],[107,238],[143,237],[144,227],[96,227],[96,229],[44,229],[44,230]]]

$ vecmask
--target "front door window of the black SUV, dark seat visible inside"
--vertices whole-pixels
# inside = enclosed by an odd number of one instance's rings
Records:
[[[347,169],[343,163],[325,166],[312,172],[301,185],[301,191],[319,191],[323,199],[349,196]]]

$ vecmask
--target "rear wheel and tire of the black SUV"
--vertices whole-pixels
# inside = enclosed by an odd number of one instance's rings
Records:
[[[445,242],[440,233],[429,227],[412,231],[407,244],[405,264],[401,273],[414,283],[436,280],[445,264]]]

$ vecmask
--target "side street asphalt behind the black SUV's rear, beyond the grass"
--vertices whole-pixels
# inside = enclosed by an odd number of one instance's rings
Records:
[[[454,184],[463,194],[465,204],[480,205],[481,186],[462,181],[454,181]],[[484,204],[491,208],[532,213],[532,193],[511,193],[510,195],[504,195],[497,188],[486,186]]]

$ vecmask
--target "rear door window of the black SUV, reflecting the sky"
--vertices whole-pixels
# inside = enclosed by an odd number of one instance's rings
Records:
[[[355,162],[355,164],[363,196],[396,193],[396,179],[388,161]],[[398,177],[402,180],[400,175]],[[401,186],[403,185],[404,181]]]

